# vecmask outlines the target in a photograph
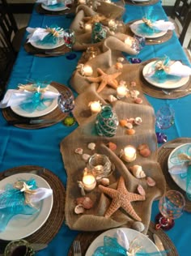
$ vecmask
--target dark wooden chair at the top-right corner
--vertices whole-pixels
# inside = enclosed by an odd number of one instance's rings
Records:
[[[179,37],[180,44],[183,45],[189,23],[191,22],[191,1],[176,0],[171,20],[175,23],[176,34]]]

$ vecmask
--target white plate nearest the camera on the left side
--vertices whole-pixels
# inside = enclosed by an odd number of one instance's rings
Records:
[[[4,190],[8,183],[13,184],[15,181],[29,180],[31,178],[36,179],[36,185],[38,187],[51,189],[49,183],[36,174],[17,173],[0,181],[0,190]],[[11,241],[22,239],[35,233],[43,224],[45,224],[45,221],[49,217],[53,207],[53,195],[41,200],[38,203],[38,207],[40,207],[40,211],[32,215],[15,215],[7,224],[6,229],[0,233],[0,239]]]

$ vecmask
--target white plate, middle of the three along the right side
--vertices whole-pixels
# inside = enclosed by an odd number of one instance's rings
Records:
[[[155,87],[159,87],[159,88],[163,88],[163,89],[175,89],[175,88],[181,87],[181,86],[185,85],[185,83],[189,82],[189,76],[186,76],[186,77],[177,78],[177,80],[167,79],[166,82],[164,82],[164,83],[158,83],[157,81],[155,81],[155,79],[152,79],[151,77],[146,76],[153,69],[152,67],[153,67],[154,63],[155,63],[155,61],[146,64],[146,66],[144,66],[144,68],[142,70],[142,75],[144,76],[144,78],[146,79],[146,81],[148,83],[151,83]]]

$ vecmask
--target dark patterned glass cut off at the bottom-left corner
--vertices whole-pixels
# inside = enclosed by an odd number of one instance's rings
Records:
[[[35,251],[26,240],[14,240],[6,245],[5,256],[34,256]]]

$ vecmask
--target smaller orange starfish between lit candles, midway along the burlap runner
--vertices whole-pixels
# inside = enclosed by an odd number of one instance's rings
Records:
[[[97,68],[97,72],[98,72],[98,74],[100,74],[100,76],[87,77],[87,80],[89,82],[100,83],[100,86],[98,87],[97,92],[101,92],[106,85],[108,85],[114,89],[117,89],[118,82],[117,82],[116,78],[117,78],[117,76],[121,75],[121,72],[116,72],[113,74],[106,74],[100,68]]]

